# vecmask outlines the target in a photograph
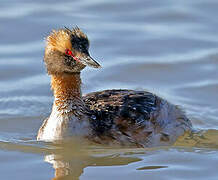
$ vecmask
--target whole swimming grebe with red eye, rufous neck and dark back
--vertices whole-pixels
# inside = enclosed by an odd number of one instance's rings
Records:
[[[82,137],[101,144],[136,147],[168,145],[192,128],[178,106],[146,91],[105,90],[81,95],[80,72],[100,65],[88,52],[89,40],[78,28],[53,30],[44,62],[54,92],[52,112],[37,140]]]

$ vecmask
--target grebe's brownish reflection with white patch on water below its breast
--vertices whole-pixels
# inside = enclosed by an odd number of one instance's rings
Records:
[[[76,148],[75,148],[76,147]],[[131,157],[130,152],[123,150],[90,149],[87,146],[75,143],[61,144],[57,150],[45,155],[45,161],[52,164],[55,177],[52,180],[78,180],[89,166],[126,165],[140,161],[140,158]]]

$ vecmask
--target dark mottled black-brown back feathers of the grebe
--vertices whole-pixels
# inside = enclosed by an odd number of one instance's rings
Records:
[[[128,128],[145,127],[158,108],[156,96],[145,91],[106,90],[83,97],[91,110],[91,124],[98,134],[112,128],[125,132]]]

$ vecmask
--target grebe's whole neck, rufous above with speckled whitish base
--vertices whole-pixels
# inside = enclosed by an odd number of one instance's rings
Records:
[[[54,106],[62,113],[71,113],[83,104],[80,73],[57,74],[51,77]]]

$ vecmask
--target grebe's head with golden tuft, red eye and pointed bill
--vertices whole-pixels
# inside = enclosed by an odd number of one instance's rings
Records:
[[[78,73],[101,67],[89,55],[89,40],[78,28],[53,30],[46,39],[44,61],[49,74]]]

